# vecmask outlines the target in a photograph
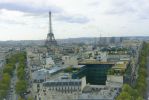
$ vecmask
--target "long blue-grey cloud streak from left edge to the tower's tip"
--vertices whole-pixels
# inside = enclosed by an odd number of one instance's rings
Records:
[[[32,6],[31,4],[27,3],[0,3],[0,9],[7,9],[7,10],[15,10],[24,13],[31,13],[31,14],[41,14],[47,13],[52,11],[53,13],[59,13],[62,11],[61,8],[50,5],[50,6]]]

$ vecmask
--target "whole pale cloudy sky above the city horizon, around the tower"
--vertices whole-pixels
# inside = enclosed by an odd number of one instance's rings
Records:
[[[149,35],[149,0],[0,0],[0,40]]]

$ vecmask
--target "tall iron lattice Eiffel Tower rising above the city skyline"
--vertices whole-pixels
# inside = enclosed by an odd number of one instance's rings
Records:
[[[47,39],[46,39],[45,45],[47,47],[57,45],[57,41],[55,40],[53,31],[52,31],[51,12],[49,12],[49,33],[47,34]]]

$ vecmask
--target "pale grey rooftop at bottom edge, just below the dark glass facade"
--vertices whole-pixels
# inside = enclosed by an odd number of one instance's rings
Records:
[[[87,85],[84,89],[89,91],[79,95],[79,100],[114,100],[118,93],[118,89],[103,85]]]

